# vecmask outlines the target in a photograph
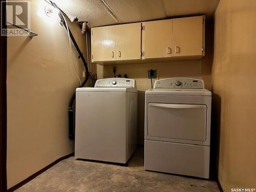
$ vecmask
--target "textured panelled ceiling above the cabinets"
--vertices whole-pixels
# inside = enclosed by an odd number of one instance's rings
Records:
[[[71,19],[90,27],[187,15],[214,16],[219,0],[55,0]]]

